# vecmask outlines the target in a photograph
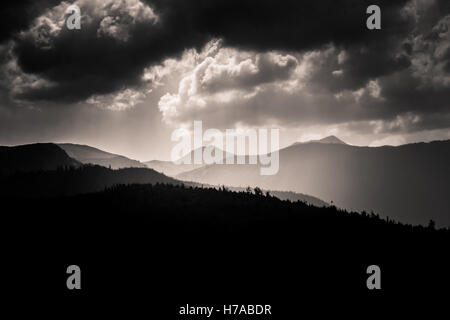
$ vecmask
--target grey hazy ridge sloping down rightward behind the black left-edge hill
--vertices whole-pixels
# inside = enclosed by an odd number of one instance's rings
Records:
[[[97,164],[104,167],[111,167],[111,169],[147,167],[137,160],[132,160],[121,155],[109,153],[86,145],[73,143],[60,143],[58,145],[64,149],[70,157],[85,164]]]

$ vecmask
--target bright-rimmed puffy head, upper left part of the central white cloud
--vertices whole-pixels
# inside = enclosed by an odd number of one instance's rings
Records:
[[[197,63],[182,76],[177,93],[161,97],[159,109],[166,122],[184,122],[190,114],[220,112],[214,109],[250,101],[266,86],[292,80],[299,66],[297,58],[288,54],[217,46],[218,42],[214,42],[197,54]],[[187,65],[182,61],[180,64]]]

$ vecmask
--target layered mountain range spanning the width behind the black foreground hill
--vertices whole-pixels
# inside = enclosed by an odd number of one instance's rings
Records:
[[[192,157],[193,152],[185,156]],[[280,150],[280,170],[273,176],[261,176],[259,165],[249,164],[176,165],[151,161],[152,170],[145,168],[146,164],[151,166],[148,162],[75,144],[0,147],[2,175],[83,164],[115,169],[91,170],[79,188],[85,192],[115,183],[185,183],[226,186],[236,191],[250,186],[280,199],[374,211],[404,223],[425,225],[434,220],[438,226],[450,225],[450,140],[359,147],[331,136],[295,143]]]

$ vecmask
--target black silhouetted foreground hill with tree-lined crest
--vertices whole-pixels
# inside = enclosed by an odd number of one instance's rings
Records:
[[[82,294],[108,305],[112,297],[121,302],[151,290],[166,303],[232,296],[298,311],[298,296],[287,287],[318,298],[358,293],[373,303],[376,293],[366,287],[372,264],[381,267],[383,297],[430,295],[449,285],[450,233],[432,224],[412,227],[260,193],[165,184],[36,199],[0,194],[0,201],[16,253],[5,261],[18,275],[4,282],[40,295],[72,294],[64,285],[74,263],[82,269]],[[39,274],[31,288],[23,277],[30,266]]]

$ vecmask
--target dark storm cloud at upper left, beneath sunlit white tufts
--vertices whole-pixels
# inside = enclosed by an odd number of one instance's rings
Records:
[[[54,36],[48,34],[49,27],[42,25],[16,41],[14,54],[21,70],[50,82],[45,87],[26,88],[16,98],[77,102],[92,94],[138,86],[145,66],[180,54],[198,41],[192,35],[174,34],[155,19],[133,20],[128,17],[126,3],[122,10],[107,7],[112,12],[106,16],[96,14],[95,5],[80,4],[80,8],[81,30],[63,26]],[[106,17],[119,20],[119,24],[113,25],[116,29],[110,28],[110,33],[108,29],[101,33]],[[117,28],[126,28],[125,39],[112,33]]]

